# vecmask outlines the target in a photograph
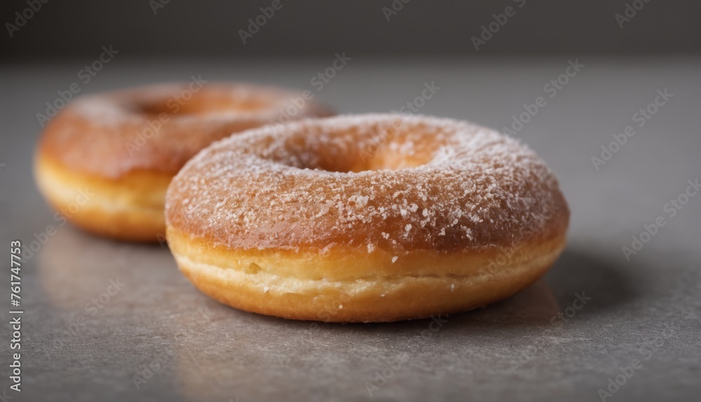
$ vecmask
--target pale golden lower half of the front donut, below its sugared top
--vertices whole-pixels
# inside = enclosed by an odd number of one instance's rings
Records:
[[[535,282],[565,243],[416,251],[392,263],[386,251],[240,251],[172,227],[167,235],[180,269],[207,296],[249,312],[330,322],[418,319],[494,303]]]

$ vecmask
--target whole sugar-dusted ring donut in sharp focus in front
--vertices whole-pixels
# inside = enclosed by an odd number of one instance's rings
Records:
[[[217,141],[168,187],[184,275],[232,307],[371,322],[482,307],[562,252],[569,208],[543,160],[464,121],[358,115]]]

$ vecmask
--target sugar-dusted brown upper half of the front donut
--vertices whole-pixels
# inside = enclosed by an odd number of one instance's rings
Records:
[[[236,249],[458,251],[563,236],[543,160],[471,123],[339,116],[261,127],[186,163],[168,225]]]

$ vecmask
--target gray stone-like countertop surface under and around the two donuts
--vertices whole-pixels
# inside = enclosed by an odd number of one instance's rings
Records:
[[[21,393],[8,389],[9,283],[0,286],[7,303],[0,395],[574,402],[600,401],[599,389],[611,392],[607,401],[691,401],[701,394],[701,195],[688,197],[674,216],[667,205],[688,180],[701,179],[700,59],[579,57],[584,67],[553,94],[545,85],[566,74],[566,58],[475,63],[348,55],[346,67],[318,89],[311,79],[332,55],[265,63],[120,56],[88,83],[79,71],[92,60],[0,65],[4,271],[10,240],[45,242],[22,268]],[[193,74],[310,89],[348,113],[400,109],[435,82],[441,89],[421,113],[498,129],[543,96],[545,106],[516,137],[559,177],[572,210],[568,247],[543,279],[501,303],[435,321],[339,325],[219,305],[187,282],[166,247],[60,226],[32,181],[36,113],[74,82],[89,93]],[[637,127],[634,115],[665,88],[673,96]],[[592,156],[627,125],[636,134],[597,171]],[[627,261],[622,247],[658,216],[665,226]],[[44,237],[50,225],[55,233]]]

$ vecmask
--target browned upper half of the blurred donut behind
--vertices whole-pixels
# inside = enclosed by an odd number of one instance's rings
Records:
[[[169,83],[79,97],[46,126],[39,154],[117,178],[174,175],[217,139],[261,125],[331,114],[301,92],[243,83]]]

